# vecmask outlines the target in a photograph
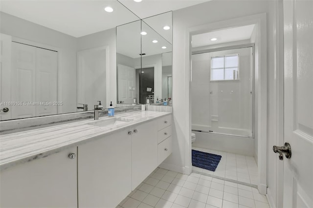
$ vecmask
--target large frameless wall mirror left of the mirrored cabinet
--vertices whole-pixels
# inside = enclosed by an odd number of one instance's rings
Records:
[[[115,26],[137,20],[116,0],[1,1],[0,121],[115,105]]]

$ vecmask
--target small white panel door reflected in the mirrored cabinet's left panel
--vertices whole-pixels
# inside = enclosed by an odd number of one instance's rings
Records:
[[[136,76],[135,69],[129,66],[118,64],[118,102],[125,104],[134,103],[136,97]]]

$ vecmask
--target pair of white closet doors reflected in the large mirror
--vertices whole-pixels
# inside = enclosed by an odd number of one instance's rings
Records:
[[[12,42],[12,119],[57,113],[57,52]]]

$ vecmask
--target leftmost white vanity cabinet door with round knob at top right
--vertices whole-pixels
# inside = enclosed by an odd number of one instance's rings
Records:
[[[0,207],[77,208],[77,147],[1,171]]]

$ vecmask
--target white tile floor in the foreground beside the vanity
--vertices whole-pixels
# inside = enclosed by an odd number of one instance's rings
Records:
[[[116,208],[269,208],[256,188],[156,168]]]

